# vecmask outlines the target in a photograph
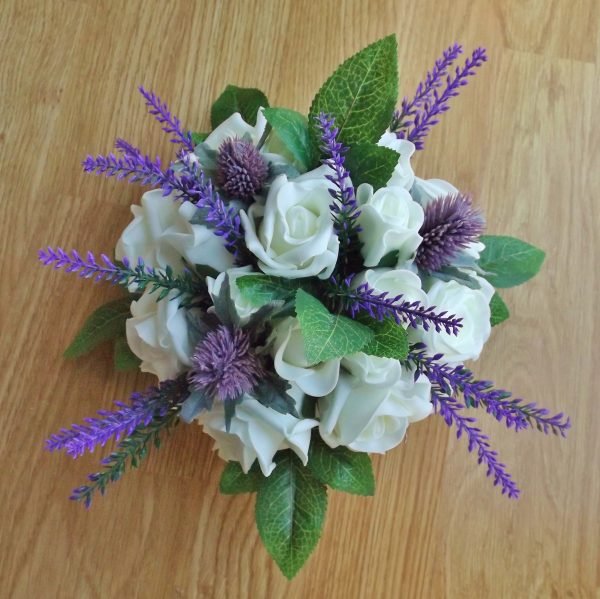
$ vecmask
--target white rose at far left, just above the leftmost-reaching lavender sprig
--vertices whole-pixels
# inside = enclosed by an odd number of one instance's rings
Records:
[[[146,192],[140,206],[133,205],[134,219],[117,242],[117,260],[142,258],[147,266],[174,272],[183,270],[182,257],[190,264],[206,264],[219,271],[233,265],[223,239],[204,225],[192,225],[196,213],[191,202],[176,202],[158,189]]]

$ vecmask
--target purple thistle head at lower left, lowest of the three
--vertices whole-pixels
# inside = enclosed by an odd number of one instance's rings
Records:
[[[252,391],[263,374],[248,334],[221,325],[196,346],[189,382],[198,391],[228,401]]]

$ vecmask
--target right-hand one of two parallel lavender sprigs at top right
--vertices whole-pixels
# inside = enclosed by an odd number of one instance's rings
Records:
[[[460,88],[467,85],[468,78],[475,75],[475,69],[480,67],[487,60],[485,48],[477,48],[470,58],[467,58],[465,65],[456,68],[454,77],[448,75],[446,78],[446,87],[440,94],[434,89],[431,98],[425,102],[424,106],[415,114],[411,127],[396,132],[400,139],[408,139],[415,144],[417,150],[424,147],[423,140],[431,130],[431,127],[439,123],[440,116],[450,109],[450,98],[458,96]]]

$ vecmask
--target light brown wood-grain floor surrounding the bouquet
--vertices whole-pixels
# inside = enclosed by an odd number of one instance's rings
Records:
[[[600,596],[599,19],[598,0],[0,2],[0,596]],[[473,192],[491,233],[546,250],[541,276],[505,294],[513,316],[475,369],[567,411],[570,437],[486,420],[523,488],[515,502],[440,418],[413,426],[374,460],[374,498],[330,495],[322,541],[289,583],[253,498],[219,495],[222,463],[194,426],[90,512],[69,502],[99,456],[49,455],[44,439],[150,381],[114,374],[108,350],[61,357],[116,291],[44,270],[37,249],[110,253],[140,194],[80,160],[117,136],[168,156],[140,83],[196,130],[230,82],[306,111],[342,59],[390,32],[406,94],[450,43],[489,49],[415,168]]]

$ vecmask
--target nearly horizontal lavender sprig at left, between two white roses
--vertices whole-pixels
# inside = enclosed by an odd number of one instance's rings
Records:
[[[62,248],[48,247],[39,251],[39,260],[45,266],[53,266],[55,270],[63,268],[65,272],[77,273],[82,279],[95,281],[108,281],[115,285],[129,287],[136,285],[139,292],[150,289],[154,293],[160,289],[158,300],[164,299],[171,291],[176,291],[171,299],[183,295],[194,297],[204,291],[200,281],[196,280],[189,271],[175,276],[170,266],[162,271],[157,271],[151,266],[146,266],[142,258],[138,258],[136,266],[132,267],[127,258],[123,258],[122,265],[115,264],[106,254],[100,254],[101,262],[96,260],[92,252],[82,258],[77,250],[69,254]],[[157,301],[158,301],[157,300]]]

